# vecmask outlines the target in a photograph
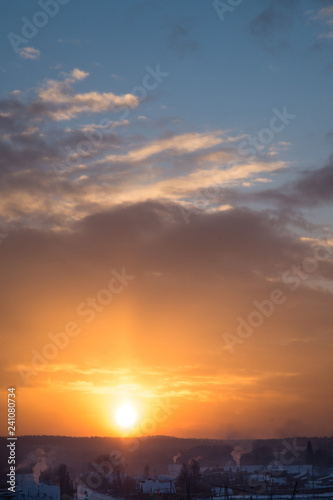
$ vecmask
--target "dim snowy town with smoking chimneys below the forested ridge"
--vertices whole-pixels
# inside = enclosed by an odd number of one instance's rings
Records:
[[[186,449],[186,441],[191,442],[188,444],[198,441],[198,444]],[[331,441],[329,439],[328,443],[331,444]],[[183,451],[170,457],[167,463],[162,457],[163,450],[160,446],[164,443],[169,451],[170,445],[174,442],[177,446],[183,445]],[[129,459],[125,458],[125,452],[124,454],[116,451],[102,453],[87,463],[85,468],[70,457],[69,466],[65,463],[56,466],[54,460],[49,466],[50,457],[54,457],[54,453],[38,448],[35,455],[30,453],[28,457],[31,458],[23,461],[23,467],[18,467],[15,492],[8,491],[4,484],[1,484],[1,498],[13,500],[332,499],[333,456],[327,448],[313,448],[311,440],[308,440],[306,446],[303,445],[304,442],[305,438],[298,440],[294,438],[276,440],[273,446],[265,440],[252,443],[240,442],[240,444],[233,442],[231,445],[224,441],[217,444],[218,440],[151,437],[141,442],[135,452],[129,452]],[[161,460],[156,458],[159,456],[159,450],[161,450]],[[197,453],[201,453],[202,456]],[[146,457],[150,455],[151,465],[140,458],[143,454]],[[36,460],[38,462],[34,463]],[[85,470],[80,472],[80,468]]]

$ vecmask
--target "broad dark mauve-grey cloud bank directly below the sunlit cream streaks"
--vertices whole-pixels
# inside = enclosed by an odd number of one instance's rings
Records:
[[[68,266],[81,259],[97,267],[127,262],[139,273],[217,273],[264,282],[311,252],[292,235],[290,222],[279,212],[233,209],[196,214],[186,224],[178,205],[151,201],[89,215],[69,232],[12,231],[1,252],[13,263],[23,255],[27,263]]]

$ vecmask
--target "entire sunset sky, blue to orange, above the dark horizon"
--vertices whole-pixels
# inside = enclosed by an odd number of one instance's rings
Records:
[[[333,2],[0,5],[0,432],[332,435]]]

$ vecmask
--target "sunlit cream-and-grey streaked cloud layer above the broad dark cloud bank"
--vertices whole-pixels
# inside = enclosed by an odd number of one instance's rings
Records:
[[[244,135],[229,130],[161,133],[161,125],[145,137],[122,133],[130,130],[130,120],[93,123],[89,116],[78,128],[53,124],[84,110],[98,111],[95,102],[88,105],[85,97],[80,103],[73,91],[74,83],[88,76],[74,69],[63,81],[48,81],[37,89],[43,101],[29,102],[20,93],[0,101],[4,223],[71,224],[91,211],[149,198],[188,204],[197,189],[240,179],[255,182],[264,172],[286,167],[273,158],[247,161],[236,147]]]

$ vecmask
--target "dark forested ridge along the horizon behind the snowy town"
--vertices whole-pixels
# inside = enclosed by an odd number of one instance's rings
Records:
[[[1,437],[1,479],[8,472],[7,438]],[[309,445],[310,443],[310,445]],[[310,446],[310,449],[309,449]],[[333,438],[298,437],[262,440],[181,439],[167,436],[144,438],[74,438],[64,436],[20,436],[17,440],[17,473],[31,473],[36,464],[42,469],[66,464],[71,474],[88,470],[102,454],[117,452],[130,475],[167,473],[168,466],[196,458],[201,467],[227,465],[267,465],[278,457],[290,465],[312,463],[333,466]]]

